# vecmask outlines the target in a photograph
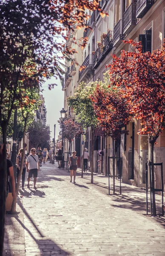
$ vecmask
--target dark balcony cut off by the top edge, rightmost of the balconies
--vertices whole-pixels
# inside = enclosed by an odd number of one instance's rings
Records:
[[[142,18],[154,4],[154,0],[137,0],[136,17]]]

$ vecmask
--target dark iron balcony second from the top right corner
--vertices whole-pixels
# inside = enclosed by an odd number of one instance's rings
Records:
[[[124,13],[123,34],[128,35],[136,25],[136,3],[131,3]]]

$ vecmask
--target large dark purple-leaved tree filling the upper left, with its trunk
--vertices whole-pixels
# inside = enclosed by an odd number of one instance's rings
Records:
[[[3,202],[0,209],[1,251],[6,201],[6,131],[11,113],[24,102],[22,89],[38,87],[43,77],[59,76],[57,60],[61,58],[59,52],[63,52],[63,39],[68,38],[66,29],[73,30],[76,23],[77,28],[85,26],[89,17],[85,9],[99,10],[102,16],[105,15],[98,0],[0,2],[0,125],[4,143],[4,161],[2,169],[0,167],[0,201]],[[87,38],[82,47],[86,41]],[[66,48],[65,52],[75,50]]]

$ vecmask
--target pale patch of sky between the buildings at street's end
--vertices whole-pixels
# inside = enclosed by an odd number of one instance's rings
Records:
[[[49,90],[48,84],[56,83],[54,89]],[[51,78],[43,84],[43,97],[45,98],[46,106],[46,124],[50,125],[51,140],[54,138],[54,125],[56,125],[55,137],[58,139],[60,125],[57,122],[61,117],[60,111],[64,107],[64,91],[62,91],[62,86],[60,79]]]

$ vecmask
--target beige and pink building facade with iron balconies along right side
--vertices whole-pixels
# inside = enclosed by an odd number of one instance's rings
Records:
[[[88,44],[82,53],[82,66],[85,69],[77,74],[75,84],[85,81],[87,84],[97,79],[102,80],[106,64],[111,63],[112,55],[119,56],[121,50],[134,51],[131,46],[124,44],[122,40],[132,39],[142,41],[144,52],[153,52],[160,49],[165,38],[165,0],[102,0],[101,8],[108,13],[102,18],[98,11],[89,13],[91,18],[88,25],[91,29],[83,32],[83,37],[88,37]],[[79,50],[80,51],[80,50]],[[129,135],[122,136],[124,153],[122,154],[122,180],[135,186],[145,186],[145,163],[151,159],[151,148],[147,135],[137,135],[141,128],[136,119],[121,127],[127,129]],[[91,132],[87,131],[85,147],[91,151]],[[97,135],[97,133],[95,133]],[[83,139],[83,138],[82,138]],[[107,175],[105,168],[105,145],[107,155],[112,156],[112,140],[104,136],[95,137],[94,145],[94,171]],[[115,156],[120,156],[120,143],[115,143]],[[82,147],[83,150],[83,146]],[[98,151],[104,151],[104,157],[98,155]],[[165,132],[157,139],[154,149],[154,162],[163,162],[165,166]],[[103,164],[98,167],[98,160]],[[116,168],[117,169],[117,168]],[[117,170],[116,170],[117,172]],[[160,188],[160,170],[155,168],[156,188]],[[165,183],[165,172],[164,172]]]

